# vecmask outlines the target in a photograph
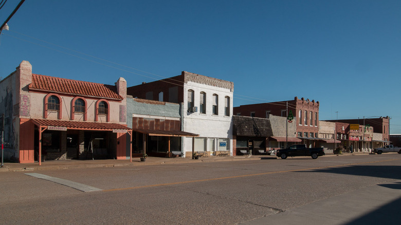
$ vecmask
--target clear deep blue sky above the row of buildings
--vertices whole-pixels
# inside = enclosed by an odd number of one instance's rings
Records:
[[[401,134],[399,0],[26,0],[8,25],[3,78],[23,60],[128,86],[185,70],[234,82],[234,106],[303,97],[320,102],[320,120],[390,116]]]

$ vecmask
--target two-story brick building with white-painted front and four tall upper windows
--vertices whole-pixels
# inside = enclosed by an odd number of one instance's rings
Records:
[[[181,105],[181,130],[199,137],[183,137],[181,147],[186,157],[192,151],[232,154],[232,97],[234,84],[203,75],[181,75],[127,88],[134,98],[158,100]]]

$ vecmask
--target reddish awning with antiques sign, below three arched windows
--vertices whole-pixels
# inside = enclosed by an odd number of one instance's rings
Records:
[[[68,129],[80,129],[80,130],[104,130],[104,131],[131,131],[122,124],[118,123],[96,123],[96,122],[79,122],[79,121],[65,121],[65,120],[41,120],[32,119],[32,122],[37,126],[47,126],[47,128],[53,127],[55,130],[68,130]]]

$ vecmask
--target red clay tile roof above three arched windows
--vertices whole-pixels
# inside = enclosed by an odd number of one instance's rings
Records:
[[[86,97],[97,97],[116,100],[123,99],[118,94],[116,86],[113,85],[69,80],[33,73],[32,83],[29,84],[29,89],[50,91],[56,93],[67,93]]]

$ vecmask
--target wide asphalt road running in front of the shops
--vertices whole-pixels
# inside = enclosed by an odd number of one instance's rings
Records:
[[[27,175],[32,173],[39,175]],[[399,154],[8,172],[0,173],[0,182],[2,224],[395,224],[401,219]]]

